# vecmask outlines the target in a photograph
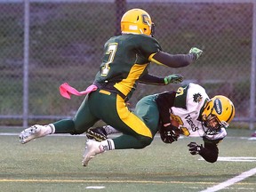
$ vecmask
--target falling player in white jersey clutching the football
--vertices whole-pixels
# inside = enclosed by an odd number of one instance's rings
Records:
[[[226,135],[226,128],[235,116],[235,107],[231,100],[222,95],[209,99],[204,88],[199,84],[185,84],[176,92],[162,92],[142,98],[134,113],[139,116],[155,136],[159,130],[165,143],[178,140],[181,135],[186,137],[201,137],[204,146],[190,142],[188,150],[191,155],[200,155],[205,161],[214,163],[218,159],[218,144]],[[96,141],[109,140],[108,135],[118,131],[110,126],[90,128],[86,133],[90,139],[87,145]],[[127,135],[114,137],[116,149],[144,148],[136,144],[124,142]],[[152,139],[153,140],[153,139]],[[96,142],[100,146],[103,142]],[[150,143],[148,143],[149,145]],[[95,144],[94,144],[95,145]]]

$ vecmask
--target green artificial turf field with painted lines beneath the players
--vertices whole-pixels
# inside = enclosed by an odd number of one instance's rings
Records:
[[[0,191],[256,191],[251,132],[229,129],[214,164],[188,153],[188,143],[202,143],[199,138],[164,144],[156,136],[148,148],[106,152],[87,167],[81,163],[85,136],[48,136],[21,145],[18,132],[4,132]]]

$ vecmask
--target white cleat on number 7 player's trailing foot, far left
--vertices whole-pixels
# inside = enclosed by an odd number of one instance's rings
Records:
[[[35,124],[20,132],[20,143],[25,144],[44,135],[46,135],[44,125]]]

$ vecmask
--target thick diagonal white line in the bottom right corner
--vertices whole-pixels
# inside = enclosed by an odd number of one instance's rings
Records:
[[[254,174],[256,174],[256,167],[253,168],[252,170],[247,171],[247,172],[242,172],[240,175],[237,175],[236,177],[234,177],[230,180],[226,180],[224,182],[221,182],[218,185],[213,186],[212,188],[206,188],[205,190],[200,191],[200,192],[218,191],[218,190],[221,190],[223,188],[227,188],[228,186],[231,186],[231,185],[235,184],[236,182],[239,182],[241,180],[245,180],[246,178],[251,177]]]

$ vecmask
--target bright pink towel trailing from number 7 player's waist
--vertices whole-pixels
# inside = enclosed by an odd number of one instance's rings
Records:
[[[74,94],[77,96],[86,95],[87,93],[94,92],[98,89],[98,87],[94,84],[91,84],[87,89],[83,92],[78,92],[74,87],[70,86],[68,83],[64,83],[60,85],[60,94],[62,97],[70,100],[70,94]]]

